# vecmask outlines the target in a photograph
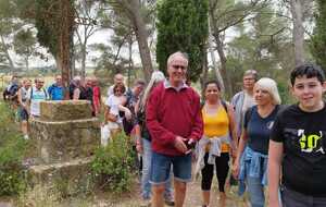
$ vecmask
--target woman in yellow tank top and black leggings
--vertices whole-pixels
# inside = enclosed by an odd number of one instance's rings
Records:
[[[210,204],[210,190],[216,168],[220,188],[220,206],[225,206],[224,185],[228,174],[229,154],[237,146],[234,109],[221,99],[221,87],[215,81],[208,82],[204,87],[205,104],[202,108],[204,135],[199,143],[199,160],[197,167],[202,174],[203,207]],[[231,147],[233,146],[233,147]]]

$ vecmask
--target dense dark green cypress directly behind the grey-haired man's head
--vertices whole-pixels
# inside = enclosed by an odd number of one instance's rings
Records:
[[[189,56],[188,77],[197,81],[205,62],[208,0],[164,0],[158,11],[156,61],[166,71],[166,60],[176,51]]]

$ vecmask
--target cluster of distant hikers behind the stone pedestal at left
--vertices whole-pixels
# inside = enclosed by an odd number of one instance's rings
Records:
[[[97,78],[87,77],[82,81],[79,76],[75,76],[70,86],[65,88],[61,75],[57,75],[54,83],[49,87],[45,87],[45,80],[40,76],[36,77],[34,82],[26,77],[20,82],[18,77],[14,75],[3,92],[3,99],[10,101],[12,109],[17,112],[26,139],[28,138],[28,119],[40,115],[40,101],[89,100],[93,115],[99,114],[101,108],[101,90]]]

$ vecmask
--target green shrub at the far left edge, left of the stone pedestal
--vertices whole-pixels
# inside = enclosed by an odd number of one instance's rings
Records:
[[[22,159],[26,141],[13,120],[9,107],[0,102],[0,195],[14,195],[25,188]]]

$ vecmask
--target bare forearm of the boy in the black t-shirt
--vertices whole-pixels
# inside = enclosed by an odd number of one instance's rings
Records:
[[[268,199],[271,207],[279,207],[278,188],[280,179],[280,163],[284,153],[283,143],[269,141],[268,149]]]

